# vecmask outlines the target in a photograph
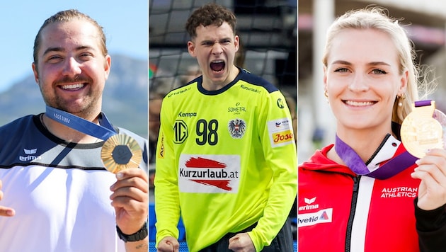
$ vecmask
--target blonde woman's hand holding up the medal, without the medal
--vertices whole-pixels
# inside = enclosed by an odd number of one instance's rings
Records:
[[[418,188],[418,207],[434,210],[446,204],[446,151],[432,149],[416,161],[418,165],[411,174],[421,179]]]

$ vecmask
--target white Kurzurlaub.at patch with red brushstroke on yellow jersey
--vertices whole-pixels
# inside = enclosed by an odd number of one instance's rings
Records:
[[[181,154],[178,186],[182,193],[237,193],[239,155]]]

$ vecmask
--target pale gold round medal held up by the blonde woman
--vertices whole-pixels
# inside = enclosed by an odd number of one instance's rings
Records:
[[[429,149],[445,145],[446,115],[435,109],[435,101],[416,101],[401,124],[401,142],[408,153],[421,159]]]

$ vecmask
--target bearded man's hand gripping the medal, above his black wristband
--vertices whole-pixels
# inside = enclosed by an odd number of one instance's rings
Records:
[[[147,174],[139,168],[116,173],[118,181],[110,190],[115,207],[116,224],[124,234],[135,234],[147,221],[149,213],[149,183]]]

